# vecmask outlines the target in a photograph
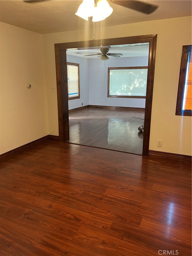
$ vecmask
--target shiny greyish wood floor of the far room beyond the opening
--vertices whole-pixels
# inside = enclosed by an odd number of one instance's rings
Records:
[[[87,108],[69,113],[68,142],[142,155],[145,110]],[[134,118],[135,117],[135,118]]]

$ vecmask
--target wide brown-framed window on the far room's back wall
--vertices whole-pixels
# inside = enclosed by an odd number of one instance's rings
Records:
[[[148,67],[108,68],[108,97],[146,98]]]

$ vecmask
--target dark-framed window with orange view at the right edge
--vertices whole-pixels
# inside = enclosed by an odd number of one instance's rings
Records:
[[[182,49],[179,86],[177,93],[176,115],[191,116],[191,45],[184,45]]]

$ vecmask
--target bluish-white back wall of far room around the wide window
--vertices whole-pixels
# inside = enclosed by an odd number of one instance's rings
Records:
[[[138,66],[148,66],[148,57],[89,59],[89,105],[145,108],[145,99],[107,97],[108,67]]]

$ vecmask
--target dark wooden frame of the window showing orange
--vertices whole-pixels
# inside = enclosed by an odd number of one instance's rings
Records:
[[[191,45],[184,45],[182,47],[182,57],[181,57],[181,65],[180,65],[180,72],[179,72],[179,85],[178,85],[176,113],[175,113],[176,116],[192,116],[191,112],[182,110],[185,77],[187,72],[187,60],[188,60],[188,53],[186,53],[186,50],[188,50],[189,47],[191,47]]]

